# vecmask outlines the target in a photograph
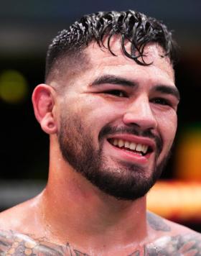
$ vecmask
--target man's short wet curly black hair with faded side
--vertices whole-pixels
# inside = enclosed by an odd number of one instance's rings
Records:
[[[59,63],[60,58],[73,56],[76,58],[82,50],[92,41],[98,43],[100,47],[103,40],[107,38],[108,50],[111,50],[111,37],[121,36],[121,48],[123,53],[136,61],[139,65],[149,65],[144,61],[144,47],[149,42],[158,43],[164,50],[164,56],[168,56],[173,64],[177,60],[177,44],[172,39],[166,25],[162,22],[147,17],[136,11],[127,12],[98,12],[83,16],[74,22],[69,29],[63,29],[52,40],[46,60],[46,78],[55,63]],[[125,42],[131,42],[131,50],[128,52]],[[139,60],[140,58],[140,60]]]

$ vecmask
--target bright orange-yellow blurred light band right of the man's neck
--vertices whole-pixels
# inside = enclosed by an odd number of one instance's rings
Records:
[[[160,180],[148,193],[147,207],[149,211],[173,221],[201,223],[200,198],[201,183]]]

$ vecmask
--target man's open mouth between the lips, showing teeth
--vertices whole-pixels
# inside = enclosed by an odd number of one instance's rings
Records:
[[[108,142],[118,149],[126,150],[139,156],[147,156],[154,151],[153,147],[146,143],[131,142],[118,138],[108,138]]]

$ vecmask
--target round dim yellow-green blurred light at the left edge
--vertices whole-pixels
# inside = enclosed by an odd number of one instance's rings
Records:
[[[17,70],[4,70],[0,74],[0,99],[15,104],[26,99],[27,94],[27,81]]]

